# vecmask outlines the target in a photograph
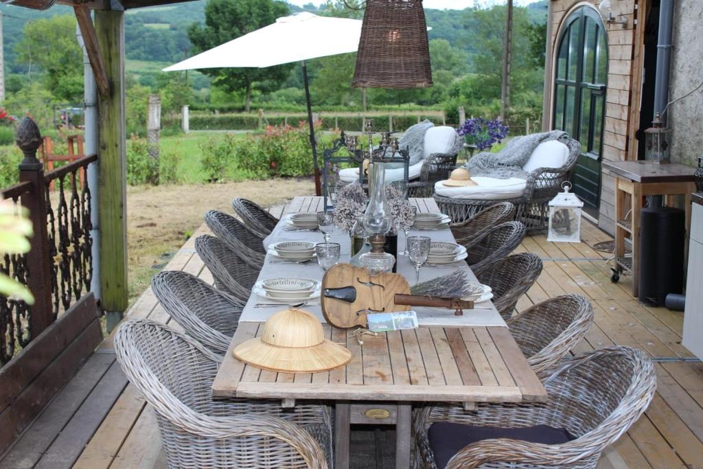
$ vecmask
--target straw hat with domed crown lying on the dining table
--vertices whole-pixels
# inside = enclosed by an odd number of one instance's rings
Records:
[[[257,368],[283,373],[333,370],[352,359],[348,349],[325,339],[315,316],[297,308],[271,316],[260,337],[242,342],[232,352]]]

